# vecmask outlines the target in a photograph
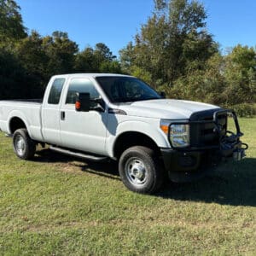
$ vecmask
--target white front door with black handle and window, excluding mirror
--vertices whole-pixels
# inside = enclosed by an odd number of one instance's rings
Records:
[[[75,102],[78,93],[90,93],[90,98],[99,98],[95,85],[87,78],[70,79],[61,101],[61,144],[95,154],[106,154],[106,111],[78,112]]]

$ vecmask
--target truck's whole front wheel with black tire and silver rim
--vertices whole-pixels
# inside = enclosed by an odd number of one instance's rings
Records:
[[[119,159],[119,175],[128,189],[142,194],[153,194],[163,183],[159,158],[143,146],[124,151]]]

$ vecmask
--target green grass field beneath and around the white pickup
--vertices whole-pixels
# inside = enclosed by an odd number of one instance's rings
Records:
[[[18,160],[0,133],[0,255],[256,255],[256,119],[240,122],[245,160],[158,195],[125,189],[114,164]]]

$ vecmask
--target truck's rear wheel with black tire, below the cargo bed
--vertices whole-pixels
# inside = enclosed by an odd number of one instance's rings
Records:
[[[26,129],[18,129],[13,136],[15,154],[22,160],[30,160],[36,152],[36,143],[29,137]]]

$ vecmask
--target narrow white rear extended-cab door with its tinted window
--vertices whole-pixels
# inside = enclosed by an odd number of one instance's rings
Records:
[[[56,78],[52,81],[51,86],[45,91],[44,105],[42,108],[42,131],[44,141],[46,143],[61,144],[60,134],[60,108],[61,108],[61,93],[64,78]]]

